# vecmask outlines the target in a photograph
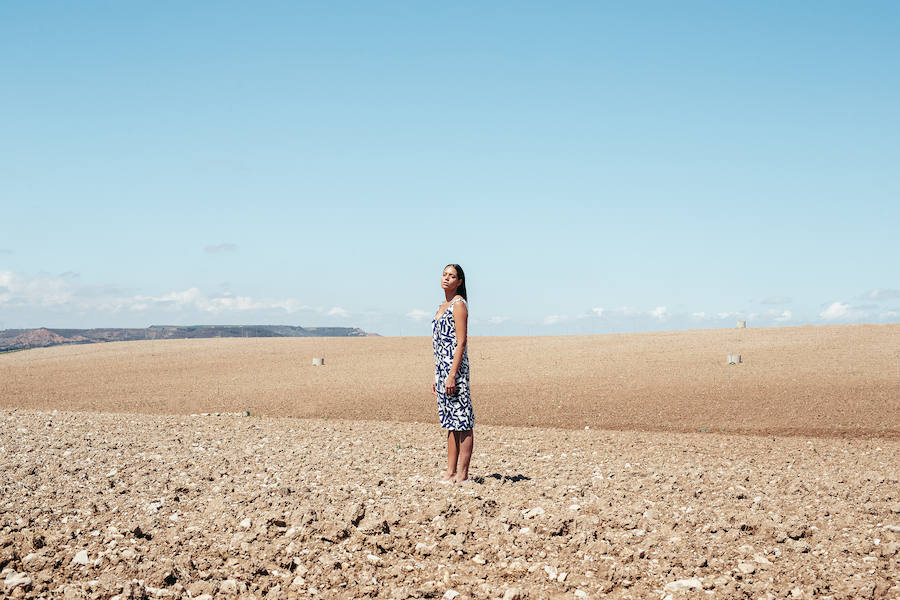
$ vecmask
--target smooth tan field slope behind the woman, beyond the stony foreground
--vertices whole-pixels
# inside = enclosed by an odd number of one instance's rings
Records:
[[[480,424],[900,437],[900,325],[474,337],[469,359]],[[432,369],[424,337],[54,347],[0,355],[0,406],[436,422]]]

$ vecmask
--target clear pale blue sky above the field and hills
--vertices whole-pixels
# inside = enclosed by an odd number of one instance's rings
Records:
[[[900,321],[896,2],[0,5],[0,328]]]

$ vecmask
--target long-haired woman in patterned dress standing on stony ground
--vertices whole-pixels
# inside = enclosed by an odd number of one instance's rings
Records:
[[[462,267],[450,264],[441,275],[444,302],[431,322],[434,346],[434,381],[431,391],[437,398],[441,427],[447,430],[447,470],[441,483],[461,483],[469,478],[469,462],[475,441],[475,413],[469,396],[469,355],[466,329],[466,275]]]

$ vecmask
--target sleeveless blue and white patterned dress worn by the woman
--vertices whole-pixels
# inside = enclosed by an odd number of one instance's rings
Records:
[[[456,322],[453,320],[453,305],[466,303],[457,298],[450,303],[447,310],[431,322],[432,342],[434,346],[434,385],[437,388],[438,416],[441,427],[451,431],[469,431],[475,428],[475,412],[472,410],[472,398],[469,396],[469,354],[463,350],[462,362],[456,372],[456,393],[447,395],[447,375],[453,365],[453,354],[456,352]]]

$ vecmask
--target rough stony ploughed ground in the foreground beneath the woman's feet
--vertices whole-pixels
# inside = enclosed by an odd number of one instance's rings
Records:
[[[12,597],[900,597],[895,441],[0,418]]]

